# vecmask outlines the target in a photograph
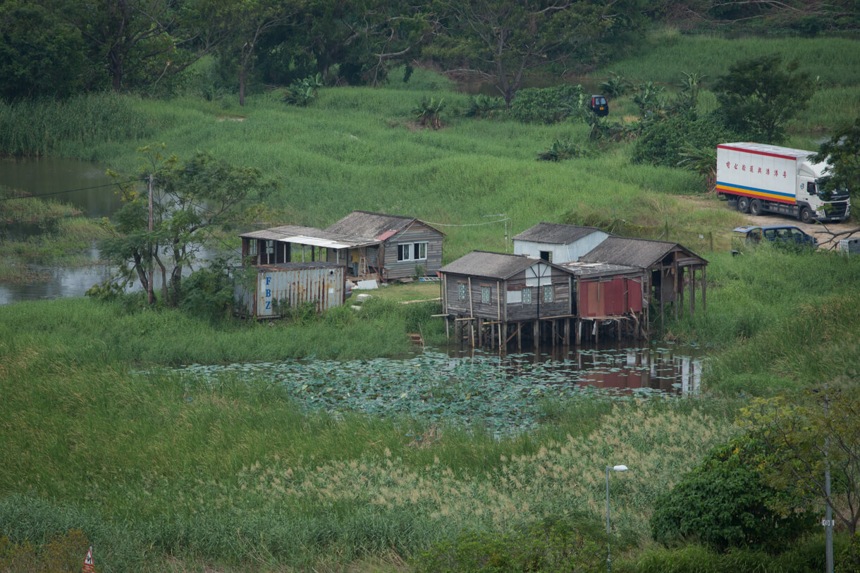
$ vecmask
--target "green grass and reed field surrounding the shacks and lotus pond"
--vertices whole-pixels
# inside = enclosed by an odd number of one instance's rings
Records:
[[[702,61],[713,77],[757,50],[784,50],[820,66],[828,85],[817,97],[832,107],[802,120],[794,145],[856,114],[857,42],[757,42],[679,35],[663,46],[655,38],[646,54],[609,69],[673,81]],[[845,58],[825,61],[828,50]],[[447,102],[439,132],[411,121],[424,95]],[[537,162],[555,139],[584,139],[587,126],[471,120],[456,113],[466,101],[450,83],[416,71],[411,84],[322,89],[308,108],[287,107],[277,92],[251,95],[245,108],[230,95],[104,96],[69,103],[84,109],[77,116],[37,102],[0,107],[0,146],[126,171],[136,168],[138,145],[152,141],[181,158],[211,151],[279,182],[272,220],[261,224],[329,225],[353,209],[414,215],[445,231],[445,262],[472,249],[503,250],[503,225],[484,217],[496,213],[510,219],[510,235],[568,218],[680,240],[710,261],[708,311],[667,322],[665,335],[715,345],[705,374],[713,393],[548,402],[537,430],[495,439],[482,426],[305,411],[265,377],[204,383],[164,368],[390,356],[409,348],[406,334],[418,324],[442,342],[444,328],[430,319],[436,304],[397,304],[439,296],[435,283],[368,292],[359,313],[347,307],[273,326],[122,301],[7,305],[0,550],[26,552],[29,542],[52,551],[53,535],[78,528],[109,571],[403,571],[409,558],[464,530],[501,534],[574,514],[601,522],[605,465],[625,463],[631,471],[611,486],[617,531],[632,539],[619,570],[637,570],[642,551],[653,549],[654,498],[736,432],[734,414],[747,397],[857,378],[857,257],[767,248],[732,257],[728,230],[740,217],[716,201],[710,209],[685,199],[699,193],[697,176],[631,164],[630,145]],[[99,105],[127,129],[100,130]],[[40,120],[34,139],[11,128],[40,115],[56,125]],[[76,117],[88,127],[70,125]],[[0,551],[0,565],[6,555]]]

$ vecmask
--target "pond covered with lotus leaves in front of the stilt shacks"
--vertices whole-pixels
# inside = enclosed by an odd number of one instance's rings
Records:
[[[192,364],[178,371],[189,401],[211,387],[253,383],[286,391],[306,410],[478,424],[498,436],[536,428],[571,400],[696,394],[703,356],[698,347],[625,348],[613,341],[549,354],[428,348],[402,358]]]

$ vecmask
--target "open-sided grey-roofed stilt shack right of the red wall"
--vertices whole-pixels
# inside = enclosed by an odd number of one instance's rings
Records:
[[[705,268],[708,262],[679,243],[630,237],[608,237],[581,256],[581,262],[603,262],[643,268],[642,285],[646,308],[651,300],[660,303],[660,323],[667,304],[673,305],[675,317],[684,306],[685,286],[689,287],[690,314],[695,311],[696,274],[702,286],[702,307],[706,300]],[[648,319],[648,317],[646,317]]]

